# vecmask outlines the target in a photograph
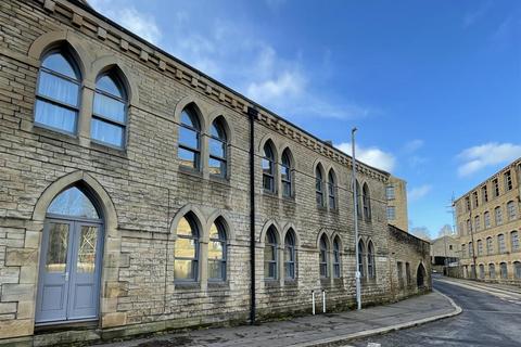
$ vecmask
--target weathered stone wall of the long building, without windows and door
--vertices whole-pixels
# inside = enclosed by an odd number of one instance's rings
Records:
[[[103,269],[99,327],[106,336],[226,321],[246,321],[250,310],[250,177],[247,100],[153,47],[65,0],[0,3],[0,338],[34,333],[39,250],[46,211],[62,190],[87,188],[103,213]],[[34,105],[40,57],[66,46],[82,75],[75,136],[38,127]],[[117,68],[129,94],[124,150],[90,140],[96,77]],[[196,105],[202,123],[200,171],[180,166],[179,115]],[[310,310],[310,292],[326,290],[330,308],[354,303],[355,240],[351,159],[283,119],[259,110],[255,121],[256,288],[258,317]],[[229,128],[229,176],[216,179],[207,168],[207,134],[216,116]],[[294,196],[262,190],[260,155],[266,140],[280,163],[290,149]],[[317,207],[315,167],[334,169],[338,208]],[[372,217],[360,220],[360,236],[376,247],[376,278],[365,280],[365,304],[392,300],[390,249],[401,259],[417,256],[409,239],[389,237],[384,188],[387,174],[364,164]],[[277,180],[280,184],[280,172]],[[200,280],[174,281],[175,230],[191,213],[201,229]],[[227,280],[206,275],[208,230],[223,218],[228,233]],[[264,280],[264,235],[275,226],[279,259],[283,236],[296,234],[296,279]],[[318,240],[341,240],[341,278],[320,279]],[[387,241],[389,240],[389,241]],[[401,242],[404,242],[403,244]],[[387,244],[389,242],[389,244]],[[410,248],[410,249],[409,249]],[[332,253],[329,257],[331,259]],[[391,270],[390,270],[391,268]],[[283,273],[279,261],[279,273]],[[405,292],[404,292],[405,293]]]

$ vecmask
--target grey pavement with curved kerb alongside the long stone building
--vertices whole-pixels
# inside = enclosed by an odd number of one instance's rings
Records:
[[[383,334],[416,326],[461,312],[447,296],[433,292],[385,306],[360,311],[321,313],[260,325],[204,329],[154,335],[105,347],[167,346],[269,346],[325,347],[341,346],[354,338]]]

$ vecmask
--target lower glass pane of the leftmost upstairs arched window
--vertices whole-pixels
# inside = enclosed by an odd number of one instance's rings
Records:
[[[76,132],[77,112],[41,100],[36,101],[35,121],[67,132]]]

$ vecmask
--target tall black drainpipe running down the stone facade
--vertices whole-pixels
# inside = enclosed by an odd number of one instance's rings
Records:
[[[250,273],[251,284],[251,307],[250,323],[255,324],[255,118],[258,111],[247,107],[250,116]]]

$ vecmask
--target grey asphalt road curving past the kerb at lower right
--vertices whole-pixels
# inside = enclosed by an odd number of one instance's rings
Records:
[[[434,288],[453,298],[463,311],[445,320],[350,342],[357,347],[392,346],[521,346],[521,296],[492,295],[486,291],[434,280]]]

